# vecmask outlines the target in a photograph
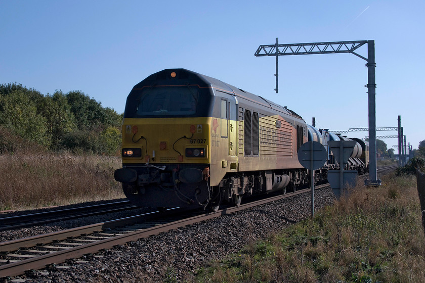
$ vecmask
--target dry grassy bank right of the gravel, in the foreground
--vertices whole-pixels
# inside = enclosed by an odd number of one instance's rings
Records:
[[[200,270],[211,282],[425,282],[425,239],[414,176],[358,186],[266,241]]]

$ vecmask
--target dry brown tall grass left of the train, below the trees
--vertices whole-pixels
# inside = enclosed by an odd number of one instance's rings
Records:
[[[68,153],[0,156],[0,210],[23,210],[123,198],[113,178],[119,157]]]

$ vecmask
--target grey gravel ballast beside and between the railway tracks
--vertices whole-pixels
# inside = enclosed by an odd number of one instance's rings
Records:
[[[315,210],[332,205],[330,187],[315,190]],[[140,209],[147,212],[148,209]],[[0,233],[0,241],[123,217],[117,214],[76,219]],[[311,195],[304,193],[177,230],[153,235],[94,255],[71,259],[60,266],[27,272],[11,280],[26,282],[163,282],[191,281],[193,273],[211,260],[238,252],[245,245],[278,232],[311,214]],[[109,219],[105,219],[108,218]],[[90,218],[90,219],[89,219]],[[66,266],[63,268],[62,266]],[[10,280],[7,280],[10,281]]]

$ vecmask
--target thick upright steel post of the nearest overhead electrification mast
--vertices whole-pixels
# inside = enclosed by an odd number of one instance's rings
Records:
[[[376,113],[375,113],[375,40],[367,41],[367,92],[369,100],[369,176],[378,184],[376,175]]]

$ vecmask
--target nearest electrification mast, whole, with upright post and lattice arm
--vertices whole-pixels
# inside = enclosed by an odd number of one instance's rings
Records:
[[[367,58],[357,54],[355,51],[367,43]],[[278,56],[282,55],[308,55],[308,54],[334,54],[351,53],[366,60],[368,73],[368,83],[365,85],[368,89],[368,110],[369,110],[369,176],[366,184],[379,186],[381,181],[376,175],[376,116],[375,116],[375,40],[358,41],[335,41],[335,42],[313,42],[313,43],[290,43],[271,45],[260,45],[254,54],[257,57],[275,56],[276,57],[276,93],[278,93]]]

